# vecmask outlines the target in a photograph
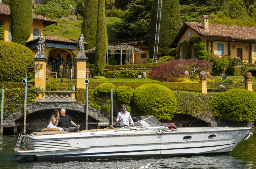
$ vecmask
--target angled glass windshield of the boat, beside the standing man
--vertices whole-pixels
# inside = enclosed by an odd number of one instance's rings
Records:
[[[130,125],[122,127],[122,128],[127,128],[127,127],[150,127],[150,126],[163,126],[163,124],[160,121],[158,121],[154,116],[151,116],[149,118],[140,120],[138,122],[135,122],[133,124],[130,124]]]

